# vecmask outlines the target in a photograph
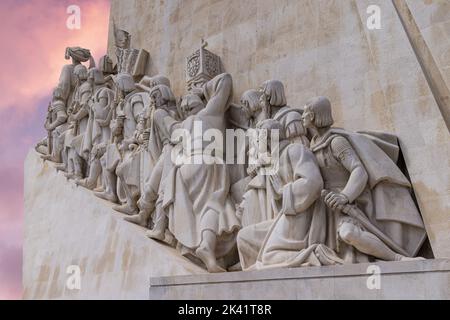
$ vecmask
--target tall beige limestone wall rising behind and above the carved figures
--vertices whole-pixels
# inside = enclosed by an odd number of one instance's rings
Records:
[[[448,89],[448,4],[397,2],[410,6]],[[381,30],[366,27],[371,4],[381,7]],[[150,52],[147,73],[167,75],[177,95],[185,87],[185,58],[204,38],[233,75],[236,102],[275,78],[292,106],[326,95],[337,126],[397,134],[434,254],[450,257],[449,131],[393,2],[112,0],[113,19],[132,34],[134,47]],[[112,39],[111,28],[113,56]]]

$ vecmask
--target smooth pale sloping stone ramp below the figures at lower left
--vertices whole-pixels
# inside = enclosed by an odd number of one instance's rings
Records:
[[[147,299],[150,277],[206,272],[34,151],[25,177],[25,299]],[[66,288],[70,265],[81,268],[81,290]]]

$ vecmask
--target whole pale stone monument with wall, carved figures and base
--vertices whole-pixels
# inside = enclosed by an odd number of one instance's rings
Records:
[[[448,299],[448,4],[372,2],[381,29],[365,1],[112,1],[27,158],[25,297]]]

